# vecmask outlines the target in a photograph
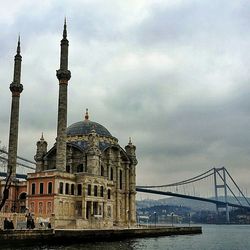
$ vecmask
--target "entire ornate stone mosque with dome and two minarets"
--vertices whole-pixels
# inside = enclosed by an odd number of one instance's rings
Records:
[[[18,40],[14,78],[10,84],[12,107],[9,134],[9,197],[2,211],[31,213],[51,221],[54,228],[128,227],[136,223],[136,147],[131,139],[123,149],[104,126],[82,121],[67,127],[68,69],[66,20],[61,40],[57,138],[48,149],[43,135],[37,142],[36,171],[27,180],[16,178],[19,100],[23,91]],[[5,181],[1,181],[1,188]],[[2,193],[1,192],[1,193]]]

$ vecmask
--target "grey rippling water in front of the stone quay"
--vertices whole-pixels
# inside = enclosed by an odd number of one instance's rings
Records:
[[[203,225],[200,235],[178,235],[157,238],[130,239],[116,242],[84,243],[71,246],[42,246],[5,249],[66,249],[66,250],[248,250],[250,225]],[[3,248],[1,248],[3,249]]]

